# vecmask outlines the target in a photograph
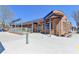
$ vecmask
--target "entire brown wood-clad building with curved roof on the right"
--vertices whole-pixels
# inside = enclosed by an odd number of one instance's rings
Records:
[[[41,32],[61,36],[71,32],[72,24],[63,12],[54,10],[47,14],[44,18],[24,23],[23,27],[30,27],[32,32]]]

